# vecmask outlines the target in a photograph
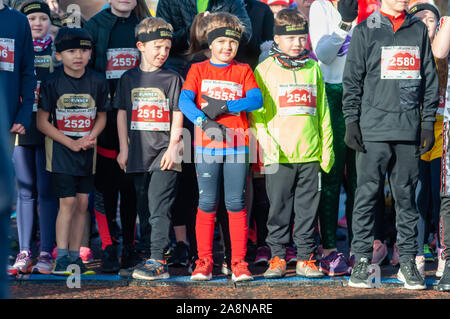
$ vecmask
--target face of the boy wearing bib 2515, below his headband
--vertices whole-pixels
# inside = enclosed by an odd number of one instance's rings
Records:
[[[142,60],[147,66],[160,68],[169,57],[172,41],[169,39],[158,39],[145,43],[138,42],[137,48],[142,53]]]

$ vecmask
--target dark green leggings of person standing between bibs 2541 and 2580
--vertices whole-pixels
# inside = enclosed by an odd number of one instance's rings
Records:
[[[319,204],[319,222],[322,246],[336,248],[336,230],[339,216],[339,194],[341,185],[347,193],[345,216],[349,243],[352,241],[352,211],[356,190],[355,152],[344,142],[345,121],[342,114],[342,84],[325,83],[325,91],[330,106],[331,127],[333,129],[334,165],[330,173],[322,172],[322,192]]]

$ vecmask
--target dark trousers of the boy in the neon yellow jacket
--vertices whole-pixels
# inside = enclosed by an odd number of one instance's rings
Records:
[[[314,226],[320,201],[319,185],[318,162],[279,164],[276,173],[266,175],[267,196],[270,201],[266,241],[272,257],[285,258],[292,213],[293,238],[297,245],[298,260],[308,260],[314,252]]]

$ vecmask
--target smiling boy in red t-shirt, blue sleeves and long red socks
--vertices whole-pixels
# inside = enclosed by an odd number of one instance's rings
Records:
[[[180,96],[180,109],[195,124],[195,165],[199,186],[196,220],[199,259],[191,280],[212,277],[214,219],[223,181],[231,237],[233,281],[252,280],[247,252],[245,185],[248,122],[245,112],[262,106],[261,91],[249,65],[234,57],[242,33],[239,20],[214,13],[207,37],[211,59],[193,64]]]

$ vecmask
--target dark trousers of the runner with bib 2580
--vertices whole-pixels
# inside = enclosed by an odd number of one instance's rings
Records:
[[[352,248],[356,260],[371,260],[374,216],[386,172],[395,199],[397,247],[400,263],[417,252],[415,190],[419,174],[419,148],[414,142],[365,142],[366,153],[356,153],[357,188],[353,209]]]

